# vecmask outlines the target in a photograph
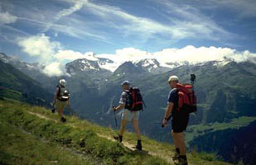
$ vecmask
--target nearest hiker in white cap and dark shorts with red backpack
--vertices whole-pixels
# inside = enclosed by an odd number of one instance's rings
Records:
[[[171,135],[176,151],[172,157],[179,165],[187,165],[185,133],[191,112],[196,112],[196,96],[194,93],[195,74],[191,74],[191,85],[179,83],[179,78],[170,76],[168,83],[171,92],[168,95],[167,111],[162,120],[162,127],[171,119]]]

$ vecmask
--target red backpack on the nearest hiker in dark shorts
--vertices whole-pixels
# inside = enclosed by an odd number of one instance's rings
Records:
[[[196,95],[191,84],[177,84],[178,111],[181,109],[188,113],[196,112]]]

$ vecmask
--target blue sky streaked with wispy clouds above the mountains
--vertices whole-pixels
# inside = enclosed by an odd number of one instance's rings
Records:
[[[157,52],[192,45],[256,52],[255,0],[2,0],[0,5],[0,51],[27,61],[58,50],[115,54],[123,48]],[[29,47],[36,43],[32,39],[42,40],[45,50]]]

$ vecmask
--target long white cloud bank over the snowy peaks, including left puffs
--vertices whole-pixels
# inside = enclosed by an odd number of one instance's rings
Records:
[[[230,48],[194,47],[187,45],[184,48],[169,48],[158,52],[147,52],[135,48],[123,48],[115,51],[115,54],[94,54],[93,52],[81,53],[74,50],[65,50],[59,42],[51,41],[44,34],[33,35],[20,39],[18,45],[22,51],[31,57],[38,57],[41,64],[46,64],[43,73],[49,76],[60,76],[65,74],[65,64],[75,59],[89,59],[93,61],[99,58],[111,59],[114,63],[105,64],[102,67],[114,72],[120,64],[126,61],[137,62],[141,59],[157,59],[164,67],[170,67],[168,63],[190,64],[204,63],[214,60],[230,59],[236,62],[253,61],[255,62],[256,54],[245,51],[237,51]]]

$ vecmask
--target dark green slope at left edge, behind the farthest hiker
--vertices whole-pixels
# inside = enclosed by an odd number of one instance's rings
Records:
[[[22,98],[17,98],[17,100],[27,101],[34,105],[49,106],[53,94],[46,92],[39,82],[1,60],[0,70],[0,97],[12,98],[13,95],[16,97],[19,95]],[[17,91],[19,94],[13,91]]]

